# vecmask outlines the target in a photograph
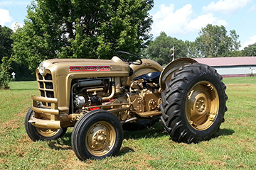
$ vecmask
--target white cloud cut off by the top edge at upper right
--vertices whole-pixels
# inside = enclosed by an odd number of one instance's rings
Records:
[[[221,12],[221,13],[234,13],[238,9],[245,7],[252,0],[220,0],[218,2],[211,2],[208,6],[203,6],[203,11],[209,12]]]

